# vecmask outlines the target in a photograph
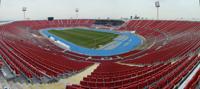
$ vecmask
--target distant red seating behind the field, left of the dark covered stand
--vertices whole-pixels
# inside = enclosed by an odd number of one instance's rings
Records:
[[[38,21],[19,21],[13,24],[21,27],[29,27],[34,30],[51,27],[74,27],[74,26],[85,26],[90,27],[94,23],[94,20],[88,19],[74,19],[74,20],[38,20]]]

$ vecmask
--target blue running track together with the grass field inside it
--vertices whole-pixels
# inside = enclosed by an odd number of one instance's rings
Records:
[[[65,50],[90,56],[118,55],[142,44],[142,39],[131,32],[109,29],[46,28],[40,33]]]

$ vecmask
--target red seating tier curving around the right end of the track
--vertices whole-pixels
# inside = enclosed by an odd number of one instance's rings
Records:
[[[146,44],[150,42],[151,46],[141,51],[142,53],[125,58],[126,60],[122,62],[153,64],[170,61],[173,58],[196,52],[200,47],[199,29],[199,22],[162,20],[129,21],[119,30],[134,30],[146,38]]]

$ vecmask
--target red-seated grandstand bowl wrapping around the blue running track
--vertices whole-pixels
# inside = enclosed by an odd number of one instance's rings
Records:
[[[9,80],[21,83],[56,83],[100,63],[90,70],[91,74],[78,79],[79,83],[66,81],[66,89],[170,89],[180,87],[191,74],[194,76],[185,87],[199,87],[199,22],[130,20],[116,31],[136,31],[145,38],[147,47],[107,57],[63,53],[64,49],[39,33],[40,29],[52,27],[90,28],[95,23],[75,21],[16,21],[1,25],[0,63],[4,64],[4,76],[12,75]]]

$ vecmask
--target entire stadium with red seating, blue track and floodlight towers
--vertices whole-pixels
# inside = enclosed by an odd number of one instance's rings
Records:
[[[23,19],[0,22],[0,89],[200,89],[200,21],[160,19],[152,2],[156,19],[78,8],[29,19],[23,7]]]

